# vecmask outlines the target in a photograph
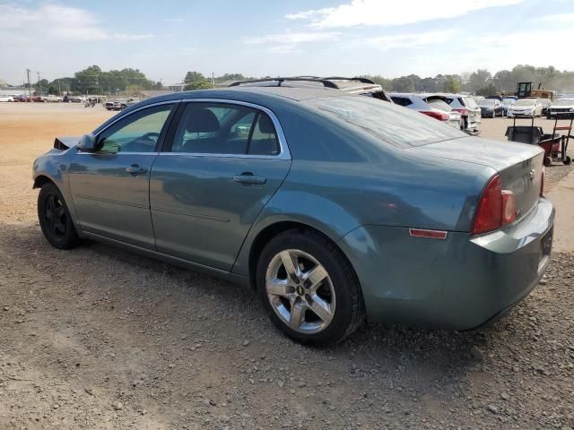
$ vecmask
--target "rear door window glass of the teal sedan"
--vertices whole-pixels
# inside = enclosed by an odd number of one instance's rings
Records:
[[[271,118],[251,107],[187,103],[171,145],[172,152],[225,155],[278,155]]]

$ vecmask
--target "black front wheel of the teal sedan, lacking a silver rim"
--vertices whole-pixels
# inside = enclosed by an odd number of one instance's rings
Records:
[[[42,185],[38,195],[39,227],[48,243],[70,249],[80,243],[62,193],[51,183]]]

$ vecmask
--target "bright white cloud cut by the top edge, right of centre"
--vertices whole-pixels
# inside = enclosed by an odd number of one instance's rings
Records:
[[[309,21],[317,28],[352,27],[356,25],[392,26],[413,22],[454,18],[493,6],[519,4],[525,0],[352,0],[337,7],[290,13],[289,20]]]

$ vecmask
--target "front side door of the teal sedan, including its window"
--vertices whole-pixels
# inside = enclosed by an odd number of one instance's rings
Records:
[[[97,151],[78,151],[69,167],[80,228],[131,245],[155,248],[149,180],[174,102],[122,116],[96,138]]]

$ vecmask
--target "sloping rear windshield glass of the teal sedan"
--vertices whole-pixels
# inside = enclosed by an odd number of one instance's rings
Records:
[[[366,97],[327,97],[304,103],[335,121],[352,125],[378,140],[411,148],[467,136],[430,116]]]

